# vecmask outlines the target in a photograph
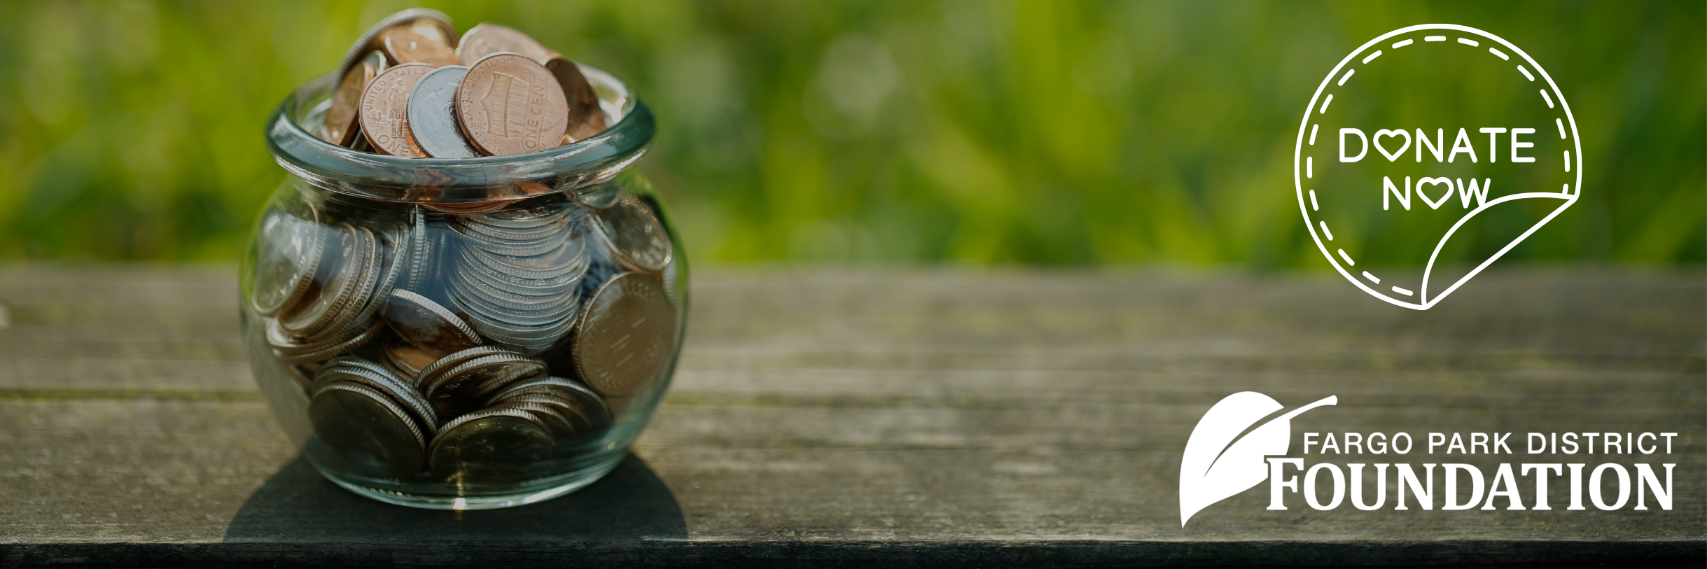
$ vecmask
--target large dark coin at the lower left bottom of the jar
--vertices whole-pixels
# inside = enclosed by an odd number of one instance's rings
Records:
[[[331,383],[309,398],[314,436],[352,470],[376,478],[403,478],[420,470],[427,436],[386,395],[355,383]]]

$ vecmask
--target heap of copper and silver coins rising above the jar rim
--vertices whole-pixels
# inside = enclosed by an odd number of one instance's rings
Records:
[[[575,62],[498,24],[457,36],[437,10],[386,17],[350,46],[338,73],[319,135],[357,150],[510,155],[584,140],[608,126]]]

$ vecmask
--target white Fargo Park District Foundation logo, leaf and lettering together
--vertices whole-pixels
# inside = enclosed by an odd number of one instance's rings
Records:
[[[1328,396],[1280,414],[1284,407],[1273,398],[1241,391],[1210,407],[1180,458],[1180,526],[1265,480],[1267,509],[1287,509],[1290,492],[1318,511],[1347,502],[1362,511],[1388,504],[1401,511],[1432,511],[1436,504],[1442,511],[1553,509],[1552,504],[1565,511],[1589,506],[1647,511],[1647,504],[1669,511],[1678,466],[1673,443],[1690,444],[1678,441],[1678,432],[1306,431],[1301,456],[1287,456],[1292,419],[1338,402]],[[1482,470],[1490,468],[1487,461],[1461,463],[1478,455],[1518,461],[1492,465],[1492,472]],[[1574,461],[1577,455],[1603,461]],[[1408,461],[1410,456],[1419,461]]]

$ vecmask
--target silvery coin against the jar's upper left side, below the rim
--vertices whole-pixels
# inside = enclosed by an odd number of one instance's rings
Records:
[[[312,208],[309,214],[319,215]],[[314,282],[326,248],[326,231],[319,219],[300,219],[270,207],[261,214],[256,239],[249,306],[261,316],[271,316],[294,308]]]

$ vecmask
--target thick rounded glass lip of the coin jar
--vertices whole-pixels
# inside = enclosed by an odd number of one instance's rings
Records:
[[[297,87],[268,118],[266,147],[273,161],[304,181],[357,197],[389,202],[469,203],[574,193],[621,173],[652,142],[652,109],[616,77],[577,63],[599,96],[604,132],[548,150],[475,159],[408,159],[345,149],[311,133],[299,121],[329,99],[336,72]]]

